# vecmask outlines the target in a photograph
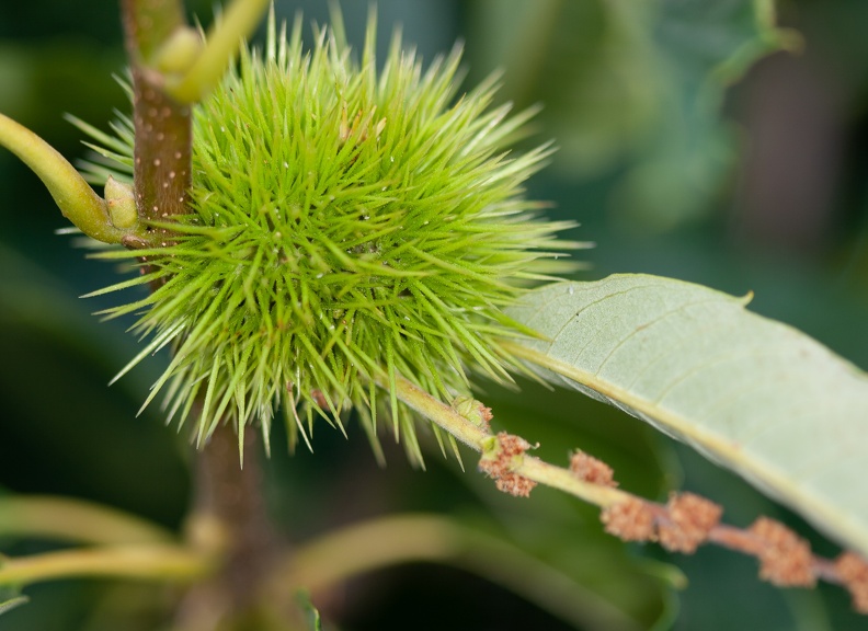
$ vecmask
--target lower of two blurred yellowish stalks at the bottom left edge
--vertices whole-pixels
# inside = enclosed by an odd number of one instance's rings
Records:
[[[189,582],[214,571],[213,560],[181,546],[116,546],[47,552],[0,561],[0,585],[82,576]]]

